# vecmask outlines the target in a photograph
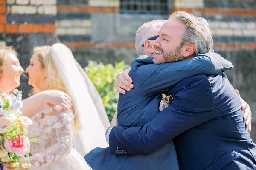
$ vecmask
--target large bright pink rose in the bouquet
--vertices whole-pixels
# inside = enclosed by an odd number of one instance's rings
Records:
[[[20,136],[16,139],[8,139],[4,137],[4,147],[9,151],[17,154],[20,157],[29,152],[29,139],[26,136]]]

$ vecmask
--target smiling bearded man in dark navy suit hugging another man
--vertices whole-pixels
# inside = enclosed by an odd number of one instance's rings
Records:
[[[210,51],[209,25],[208,32],[201,34],[202,20],[184,12],[172,14],[153,42],[153,61],[174,62]],[[149,68],[144,71],[151,75],[151,65],[146,60],[138,69]],[[148,77],[147,82],[156,81],[165,79]],[[154,91],[152,84],[148,83],[146,90]],[[173,139],[180,169],[256,169],[256,145],[242,119],[239,97],[224,74],[188,77],[177,82],[168,94],[174,96],[172,104],[152,122],[140,127],[111,127],[111,154],[151,153]],[[161,164],[158,166],[161,168]]]

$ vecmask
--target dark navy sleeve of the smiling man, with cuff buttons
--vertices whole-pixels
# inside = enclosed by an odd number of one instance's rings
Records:
[[[189,77],[173,89],[173,102],[157,117],[140,127],[113,127],[109,136],[111,154],[124,149],[127,154],[151,153],[175,136],[212,117],[211,84],[205,75]]]

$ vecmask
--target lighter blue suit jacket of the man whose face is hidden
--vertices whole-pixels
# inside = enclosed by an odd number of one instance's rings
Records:
[[[133,79],[134,89],[120,94],[118,102],[118,124],[123,127],[144,125],[154,119],[159,112],[161,92],[168,91],[182,79],[198,74],[219,74],[233,65],[220,55],[210,52],[160,65],[154,64],[151,57],[143,56],[135,60],[131,67],[129,74]],[[125,153],[124,150],[116,149]],[[163,169],[179,168],[172,140],[151,154],[114,156],[110,155],[109,148],[96,148],[84,158],[93,170],[158,170],[159,164]]]

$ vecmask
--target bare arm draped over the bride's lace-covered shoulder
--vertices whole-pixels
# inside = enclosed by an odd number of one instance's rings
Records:
[[[50,103],[52,105],[62,105],[64,108],[71,108],[72,103],[70,96],[59,90],[45,90],[38,94],[22,100],[23,107],[21,111],[24,116],[32,117],[41,108]]]

